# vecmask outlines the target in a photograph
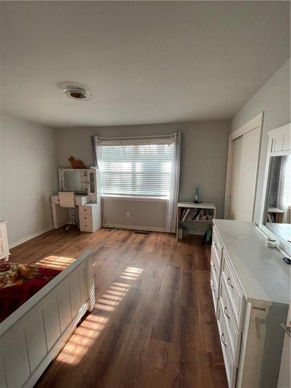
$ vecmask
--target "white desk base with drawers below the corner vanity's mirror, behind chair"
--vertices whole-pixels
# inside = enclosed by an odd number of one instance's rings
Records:
[[[71,210],[60,206],[59,195],[51,196],[54,228],[58,229],[69,221]],[[102,227],[101,203],[88,203],[88,196],[75,194],[76,221],[80,222],[80,230],[94,232]]]

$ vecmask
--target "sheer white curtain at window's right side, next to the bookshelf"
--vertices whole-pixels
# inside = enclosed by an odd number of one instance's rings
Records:
[[[167,201],[166,208],[166,230],[174,233],[176,231],[177,223],[177,205],[179,198],[179,183],[180,183],[180,148],[181,148],[181,134],[180,132],[173,133],[171,139],[174,144],[172,173],[170,195]]]

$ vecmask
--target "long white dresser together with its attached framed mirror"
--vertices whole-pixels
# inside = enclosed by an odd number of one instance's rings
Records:
[[[210,286],[230,388],[290,386],[280,372],[290,365],[290,130],[268,133],[260,224],[213,221]]]

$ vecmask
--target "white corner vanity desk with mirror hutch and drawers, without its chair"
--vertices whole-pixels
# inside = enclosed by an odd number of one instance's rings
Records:
[[[59,190],[74,192],[80,231],[94,232],[102,227],[100,185],[98,169],[59,169]],[[51,196],[51,205],[54,228],[60,228],[71,218],[70,210],[60,207],[58,194]]]

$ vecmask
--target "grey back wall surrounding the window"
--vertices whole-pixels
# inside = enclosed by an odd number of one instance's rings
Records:
[[[91,135],[103,137],[159,135],[181,132],[180,200],[193,201],[194,189],[201,187],[201,200],[214,202],[217,217],[223,216],[226,175],[228,121],[197,121],[176,124],[131,125],[117,127],[86,127],[58,129],[57,153],[60,167],[69,166],[74,156],[87,166],[92,164]],[[104,201],[104,215],[111,224],[165,228],[165,203],[137,201]],[[130,212],[130,218],[126,212]],[[195,225],[195,226],[194,226]],[[198,223],[191,229],[201,232]],[[201,224],[199,225],[201,227]]]

